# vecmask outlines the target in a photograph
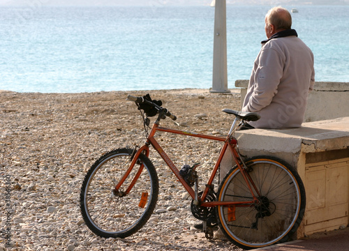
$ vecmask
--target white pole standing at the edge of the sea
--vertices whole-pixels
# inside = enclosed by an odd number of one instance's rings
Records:
[[[228,93],[226,0],[216,0],[214,8],[214,64],[210,92]]]

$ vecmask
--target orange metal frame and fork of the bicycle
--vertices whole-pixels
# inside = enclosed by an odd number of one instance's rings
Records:
[[[124,176],[121,178],[119,183],[115,186],[115,190],[119,191],[119,188],[121,187],[122,183],[124,183],[127,176],[131,173],[131,170],[135,166],[135,163],[137,162],[140,154],[144,153],[145,155],[147,155],[147,157],[149,156],[149,145],[151,144],[151,146],[154,147],[154,149],[158,152],[158,154],[161,155],[161,158],[163,158],[163,160],[168,165],[168,167],[170,167],[170,169],[172,170],[174,175],[177,176],[178,180],[184,186],[184,188],[189,193],[189,195],[194,200],[197,200],[197,203],[200,206],[207,206],[207,207],[233,206],[233,205],[235,205],[235,206],[251,206],[251,204],[258,204],[259,200],[257,199],[257,197],[255,196],[255,193],[253,192],[253,189],[256,192],[258,192],[258,189],[255,187],[253,181],[251,180],[248,173],[246,172],[246,169],[244,168],[244,165],[242,164],[241,158],[239,157],[239,153],[237,152],[237,149],[236,149],[237,140],[234,137],[232,137],[232,132],[234,131],[233,128],[235,128],[235,124],[238,122],[237,119],[235,119],[234,123],[232,124],[232,128],[230,128],[230,132],[228,133],[227,137],[218,137],[218,136],[213,136],[213,135],[204,135],[204,134],[195,133],[195,132],[187,132],[184,130],[163,128],[163,127],[159,126],[159,120],[160,120],[160,116],[159,116],[158,120],[156,120],[154,122],[154,125],[152,126],[151,131],[149,132],[149,136],[147,137],[147,141],[145,142],[145,144],[143,146],[141,146],[140,149],[138,149],[138,151],[134,154],[133,159],[132,159],[131,164],[130,164],[130,167],[128,168],[128,171],[126,172],[126,174],[124,174]],[[156,141],[154,136],[155,136],[157,131],[170,132],[172,134],[185,135],[188,137],[199,137],[202,139],[211,139],[211,140],[218,141],[218,142],[224,142],[224,145],[221,149],[221,152],[218,155],[218,160],[216,161],[216,164],[214,165],[214,169],[211,173],[209,181],[207,182],[205,191],[202,193],[202,196],[200,198],[197,197],[198,195],[195,193],[193,188],[191,188],[191,186],[188,185],[186,183],[186,181],[184,180],[184,178],[179,174],[179,169],[176,167],[176,165],[174,165],[172,160],[170,160],[170,158],[165,153],[165,151],[163,151],[160,144],[158,144],[158,142]],[[248,189],[251,192],[251,197],[253,197],[253,200],[251,200],[251,201],[205,201],[205,198],[207,197],[209,190],[211,189],[211,184],[214,181],[214,177],[216,176],[218,168],[221,165],[223,155],[225,154],[225,151],[227,151],[227,149],[230,149],[232,156],[235,160],[235,163],[237,164],[237,167],[242,172],[244,180],[246,181],[246,184],[248,185]],[[135,174],[133,181],[130,183],[130,185],[128,186],[126,191],[123,192],[123,195],[127,195],[128,192],[131,191],[131,189],[133,188],[133,185],[135,185],[135,182],[140,177],[140,174],[141,174],[143,168],[144,168],[144,166],[140,165],[140,169],[138,170],[137,174]]]

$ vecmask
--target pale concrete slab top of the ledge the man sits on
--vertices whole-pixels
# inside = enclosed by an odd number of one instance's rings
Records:
[[[244,130],[236,132],[236,137],[240,149],[248,149],[250,153],[296,154],[301,149],[307,153],[346,149],[349,146],[349,117],[303,123],[302,128]]]

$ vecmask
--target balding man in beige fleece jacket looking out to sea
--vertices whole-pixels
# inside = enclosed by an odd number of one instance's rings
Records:
[[[313,53],[291,29],[288,10],[275,7],[265,16],[267,40],[255,59],[242,111],[261,119],[242,129],[297,128],[315,82]]]

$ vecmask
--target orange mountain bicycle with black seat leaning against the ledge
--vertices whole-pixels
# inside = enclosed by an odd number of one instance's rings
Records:
[[[158,175],[149,160],[149,146],[161,155],[192,198],[191,211],[202,220],[207,238],[213,238],[213,223],[232,243],[246,250],[288,241],[299,227],[306,204],[301,178],[287,162],[272,156],[245,158],[239,153],[234,132],[244,121],[256,121],[253,112],[223,109],[235,115],[226,137],[204,135],[171,128],[163,128],[160,121],[166,116],[177,119],[160,100],[150,96],[128,96],[143,114],[147,140],[135,149],[116,149],[101,156],[87,172],[80,192],[80,209],[84,222],[98,236],[126,238],[149,220],[158,199]],[[146,116],[144,116],[144,114]],[[149,127],[148,116],[157,116]],[[148,131],[149,129],[150,131]],[[179,170],[156,141],[156,132],[169,132],[222,142],[205,190],[199,191],[198,165],[184,165]],[[230,151],[235,166],[214,190],[225,151]]]

